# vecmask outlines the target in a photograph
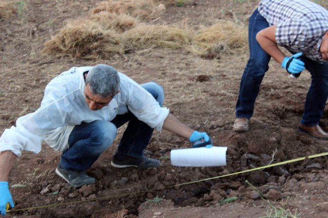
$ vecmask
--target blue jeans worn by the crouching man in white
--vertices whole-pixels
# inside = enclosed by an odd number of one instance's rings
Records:
[[[141,87],[152,94],[160,106],[163,106],[164,90],[161,86],[150,82],[142,84]],[[69,136],[70,148],[62,153],[60,166],[74,171],[89,169],[100,154],[111,146],[116,137],[117,128],[126,122],[129,124],[120,140],[117,153],[121,157],[124,155],[142,157],[154,129],[128,111],[117,115],[111,122],[96,120],[75,126]]]

